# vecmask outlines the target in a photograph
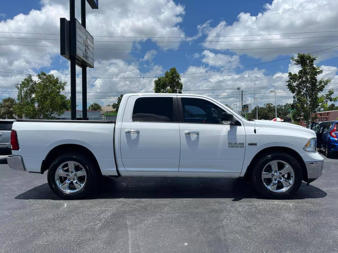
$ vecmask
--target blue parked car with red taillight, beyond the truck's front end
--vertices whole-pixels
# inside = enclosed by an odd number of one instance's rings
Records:
[[[338,120],[325,122],[312,122],[311,129],[317,135],[318,151],[325,152],[325,156],[330,158],[337,156],[338,153]]]

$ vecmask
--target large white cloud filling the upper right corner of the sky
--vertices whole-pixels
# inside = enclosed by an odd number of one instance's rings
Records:
[[[302,46],[337,45],[336,37],[326,38],[299,38],[296,37],[333,36],[334,33],[306,33],[306,34],[280,34],[269,36],[245,36],[252,34],[274,34],[307,31],[336,30],[338,23],[338,9],[336,0],[274,0],[272,4],[265,4],[263,12],[257,16],[241,12],[238,20],[233,24],[221,21],[215,27],[208,21],[200,25],[200,33],[208,36],[235,36],[235,37],[209,37],[206,41],[215,40],[250,40],[250,39],[277,39],[241,42],[205,42],[203,46],[208,49],[248,49],[248,48],[280,48]],[[325,49],[325,47],[271,49],[271,50],[234,50],[238,55],[247,54],[255,58],[270,59],[279,55],[296,55],[298,52],[309,53]],[[332,58],[338,55],[338,48],[317,53],[319,60]]]

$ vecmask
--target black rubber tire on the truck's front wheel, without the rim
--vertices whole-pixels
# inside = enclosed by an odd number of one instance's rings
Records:
[[[273,192],[269,190],[263,182],[262,172],[264,167],[274,160],[280,160],[288,163],[294,172],[294,181],[289,189],[284,192]],[[255,167],[251,173],[251,182],[255,189],[262,195],[272,199],[286,199],[290,198],[299,189],[301,181],[303,180],[303,174],[301,167],[297,160],[288,153],[273,152],[265,154],[262,158],[258,159],[254,165]]]

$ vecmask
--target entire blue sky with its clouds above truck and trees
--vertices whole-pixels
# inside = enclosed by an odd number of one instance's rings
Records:
[[[80,1],[76,1],[77,8],[79,8],[79,3]],[[58,46],[58,35],[26,34],[27,32],[58,34],[59,18],[69,18],[68,5],[68,0],[2,1],[0,32],[8,33],[0,33],[0,36],[11,38],[0,38],[0,43],[42,46],[0,45],[0,54],[2,53],[0,71],[9,72],[0,73],[7,75],[0,76],[0,92],[3,93],[3,97],[6,94],[15,97],[16,90],[13,84],[20,82],[24,76],[10,73],[36,74],[45,71],[53,73],[55,76],[69,76],[69,62],[59,55],[59,49],[45,47],[46,45]],[[239,102],[238,91],[233,88],[242,87],[246,89],[244,100],[253,103],[252,97],[254,95],[249,93],[253,93],[254,90],[251,90],[250,87],[253,87],[255,83],[256,87],[262,87],[256,91],[261,93],[258,101],[260,105],[274,102],[274,97],[267,93],[271,89],[279,92],[280,98],[277,103],[284,104],[291,102],[292,96],[285,87],[282,87],[285,86],[287,80],[287,75],[283,73],[297,71],[297,67],[291,64],[290,59],[252,67],[238,67],[279,60],[294,56],[298,52],[309,53],[335,46],[337,37],[334,36],[338,36],[338,32],[326,32],[338,30],[335,27],[336,21],[338,21],[335,6],[333,0],[318,1],[317,3],[310,0],[237,2],[128,0],[115,4],[108,0],[100,0],[99,10],[91,10],[87,4],[87,29],[95,38],[95,48],[128,50],[95,50],[95,68],[88,70],[88,76],[151,77],[163,75],[169,68],[176,67],[178,72],[182,74],[183,89],[193,90],[184,93],[213,95],[222,103],[233,105]],[[34,10],[32,11],[32,9]],[[80,20],[79,9],[77,9],[76,17]],[[294,32],[300,33],[282,34]],[[253,34],[275,35],[248,36]],[[98,35],[122,37],[95,37]],[[232,37],[212,37],[229,35]],[[172,38],[185,36],[199,37]],[[39,38],[39,40],[30,38]],[[43,38],[56,40],[43,40]],[[254,41],[228,41],[248,39]],[[130,43],[99,42],[101,40],[130,41]],[[227,42],[220,42],[223,40]],[[161,43],[161,41],[167,43]],[[179,41],[179,43],[168,43],[168,41]],[[284,49],[248,50],[250,48],[276,47]],[[196,51],[192,51],[192,49],[196,49]],[[333,78],[333,84],[338,83],[337,52],[338,49],[334,48],[315,53],[318,55],[316,64],[322,66],[324,70],[322,77]],[[237,69],[220,71],[229,68]],[[218,72],[186,75],[210,71]],[[260,75],[262,73],[265,75]],[[268,75],[270,73],[281,74]],[[8,77],[8,75],[11,76]],[[77,104],[79,105],[78,109],[81,109],[79,68],[77,68],[77,76],[79,77]],[[68,82],[66,95],[69,95],[67,93],[70,91],[69,78],[60,79]],[[88,91],[91,92],[88,93],[89,103],[98,102],[105,105],[115,102],[115,97],[123,91],[152,90],[153,79],[89,79],[88,87]],[[331,85],[328,88],[335,88],[335,86]],[[198,91],[198,89],[203,90]]]

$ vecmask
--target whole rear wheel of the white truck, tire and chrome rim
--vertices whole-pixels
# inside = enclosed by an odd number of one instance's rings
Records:
[[[75,199],[95,192],[98,174],[95,164],[79,153],[57,157],[49,167],[47,180],[50,189],[64,199]]]

